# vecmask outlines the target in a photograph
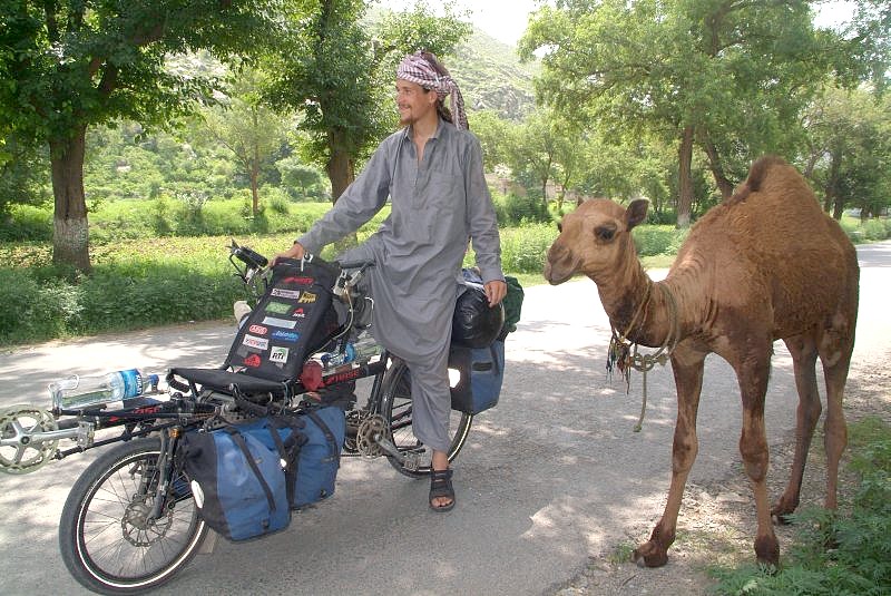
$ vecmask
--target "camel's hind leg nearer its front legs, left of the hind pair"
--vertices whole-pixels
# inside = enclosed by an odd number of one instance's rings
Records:
[[[785,524],[785,516],[799,507],[807,451],[822,411],[816,387],[816,343],[810,335],[799,335],[785,340],[785,344],[792,354],[795,369],[799,409],[795,423],[795,458],[792,461],[789,485],[783,496],[771,508],[771,516],[777,524]]]

